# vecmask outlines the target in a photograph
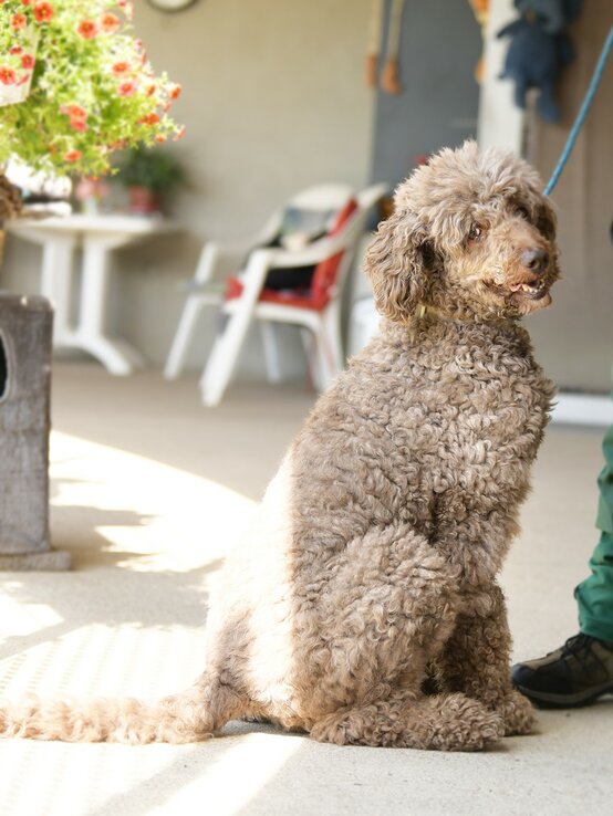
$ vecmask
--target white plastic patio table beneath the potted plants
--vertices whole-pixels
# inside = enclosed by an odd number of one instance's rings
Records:
[[[53,345],[87,352],[111,374],[127,375],[141,367],[143,358],[132,346],[105,333],[110,253],[176,227],[159,217],[123,215],[52,217],[11,221],[7,227],[43,248],[41,293],[55,308]],[[81,294],[76,320],[71,321],[77,249],[82,251]]]

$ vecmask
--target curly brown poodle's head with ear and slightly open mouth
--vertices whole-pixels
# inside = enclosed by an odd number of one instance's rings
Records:
[[[420,305],[453,317],[520,317],[551,303],[555,215],[512,154],[474,142],[444,149],[396,190],[368,248],[378,311],[406,322]]]

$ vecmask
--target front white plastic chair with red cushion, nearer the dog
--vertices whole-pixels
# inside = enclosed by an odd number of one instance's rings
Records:
[[[222,305],[227,322],[216,338],[200,380],[205,405],[216,406],[221,400],[253,318],[262,321],[268,332],[264,332],[264,355],[269,376],[273,380],[279,379],[277,347],[270,334],[270,324],[273,323],[293,324],[305,329],[303,337],[312,377],[320,389],[325,388],[342,370],[344,354],[340,302],[343,282],[352,265],[368,211],[387,189],[386,185],[374,185],[357,193],[353,213],[334,234],[314,241],[303,250],[288,252],[281,249],[260,249],[250,255],[241,276],[240,296],[228,300]],[[266,278],[271,269],[321,264],[332,259],[337,259],[334,285],[325,293],[323,302],[314,304],[310,295],[301,297],[264,290]]]

